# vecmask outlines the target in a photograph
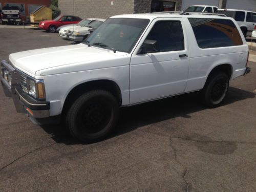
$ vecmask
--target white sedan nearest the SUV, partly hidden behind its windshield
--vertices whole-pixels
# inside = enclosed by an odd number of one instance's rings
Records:
[[[89,25],[87,25],[86,27],[70,28],[70,29],[68,29],[68,32],[66,33],[67,38],[70,40],[73,40],[75,42],[81,42],[89,36],[90,29],[98,28],[101,24],[103,24],[104,21],[105,21],[105,19],[96,19],[93,22],[91,22]]]

